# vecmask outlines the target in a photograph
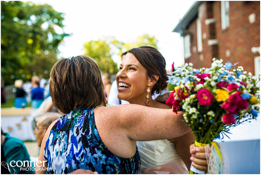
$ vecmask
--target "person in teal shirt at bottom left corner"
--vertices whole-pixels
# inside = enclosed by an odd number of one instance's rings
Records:
[[[32,167],[30,168],[30,156],[27,152],[27,149],[25,147],[25,145],[23,144],[23,142],[21,140],[19,140],[18,138],[14,138],[11,137],[8,133],[3,133],[2,129],[1,129],[1,146],[3,148],[3,153],[6,159],[6,162],[8,163],[9,169],[10,169],[10,173],[11,174],[34,174],[35,171],[34,168],[32,169]],[[13,161],[12,161],[13,160]],[[21,166],[21,162],[23,163],[23,161],[28,161],[29,165],[25,165],[25,167]],[[12,161],[12,162],[11,162]],[[17,165],[21,166],[18,167],[16,165],[16,163],[18,162]],[[10,166],[10,163],[12,166]],[[7,166],[5,166],[6,168],[8,168]],[[28,167],[28,168],[27,168]],[[14,172],[15,171],[15,172]]]

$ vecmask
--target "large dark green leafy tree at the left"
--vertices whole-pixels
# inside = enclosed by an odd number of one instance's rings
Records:
[[[1,75],[6,84],[50,71],[59,44],[69,36],[63,30],[63,15],[48,4],[1,1]]]

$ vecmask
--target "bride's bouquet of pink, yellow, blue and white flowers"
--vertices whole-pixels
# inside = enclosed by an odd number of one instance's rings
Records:
[[[256,119],[259,113],[258,78],[247,74],[242,66],[236,68],[236,64],[222,62],[213,58],[211,68],[200,70],[186,63],[167,81],[176,87],[166,104],[175,113],[184,112],[184,121],[191,127],[197,147],[214,144],[212,141],[220,134],[226,135],[232,127]],[[193,171],[190,174],[196,174]]]

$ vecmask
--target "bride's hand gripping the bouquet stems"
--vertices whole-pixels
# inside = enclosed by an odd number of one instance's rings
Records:
[[[191,165],[198,170],[208,171],[208,164],[206,161],[205,147],[195,147],[195,144],[190,145],[190,160]]]

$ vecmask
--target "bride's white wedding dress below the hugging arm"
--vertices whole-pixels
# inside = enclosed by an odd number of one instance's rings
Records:
[[[168,140],[137,141],[139,174],[188,174],[174,143]]]

